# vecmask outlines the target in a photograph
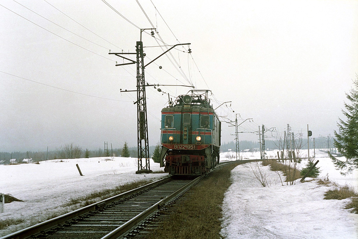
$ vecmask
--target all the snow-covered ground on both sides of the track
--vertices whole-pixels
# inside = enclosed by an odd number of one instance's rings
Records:
[[[277,150],[276,150],[277,151]],[[267,155],[275,157],[276,151]],[[235,160],[234,152],[221,153],[221,161]],[[310,152],[313,155],[313,151]],[[260,158],[260,152],[240,153],[244,159]],[[111,159],[111,160],[108,160]],[[329,180],[339,185],[350,185],[358,191],[358,172],[342,176],[333,167],[324,152],[316,150],[317,166],[327,173]],[[135,158],[89,158],[40,162],[40,164],[0,165],[0,192],[10,193],[24,202],[5,204],[0,220],[22,218],[24,224],[44,220],[61,210],[63,203],[82,196],[83,193],[114,188],[127,182],[142,179],[159,180],[167,174],[136,175]],[[303,161],[300,167],[304,166]],[[84,176],[79,176],[76,163]],[[151,161],[151,169],[159,164]],[[293,186],[281,186],[278,175],[270,173],[270,187],[262,187],[252,178],[250,169],[244,165],[232,171],[233,184],[226,192],[223,202],[223,229],[227,239],[242,238],[358,238],[358,215],[343,209],[346,200],[324,200],[323,193],[329,187],[315,181]],[[10,226],[0,230],[0,236],[24,226]]]

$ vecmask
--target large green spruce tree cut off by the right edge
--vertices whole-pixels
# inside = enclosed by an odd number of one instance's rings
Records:
[[[337,125],[340,134],[334,131],[334,146],[346,158],[346,161],[341,161],[329,153],[329,157],[336,168],[341,170],[342,175],[346,175],[352,172],[353,169],[358,168],[358,75],[356,77],[357,79],[353,81],[354,86],[350,90],[350,94],[345,94],[350,101],[348,103],[344,102],[346,110],[342,110],[347,121],[339,118]]]

